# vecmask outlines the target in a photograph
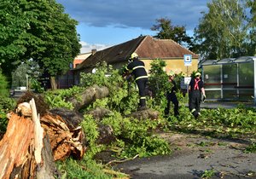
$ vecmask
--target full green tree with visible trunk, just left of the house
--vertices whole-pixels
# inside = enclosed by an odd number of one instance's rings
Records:
[[[56,89],[55,75],[67,72],[73,58],[79,54],[81,45],[76,32],[77,21],[63,14],[64,9],[55,1],[49,1],[46,8],[51,15],[42,15],[48,21],[41,39],[46,42],[44,47],[47,50],[37,55],[36,60],[49,73],[52,89]]]

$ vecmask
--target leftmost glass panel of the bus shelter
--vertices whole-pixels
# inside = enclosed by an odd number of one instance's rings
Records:
[[[220,88],[220,65],[203,66],[205,89]]]

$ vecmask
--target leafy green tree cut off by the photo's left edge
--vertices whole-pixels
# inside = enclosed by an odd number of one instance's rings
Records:
[[[29,28],[26,14],[20,4],[13,0],[0,1],[0,54],[3,74],[11,77],[13,62],[26,52],[26,30]],[[10,78],[9,78],[10,79]]]

